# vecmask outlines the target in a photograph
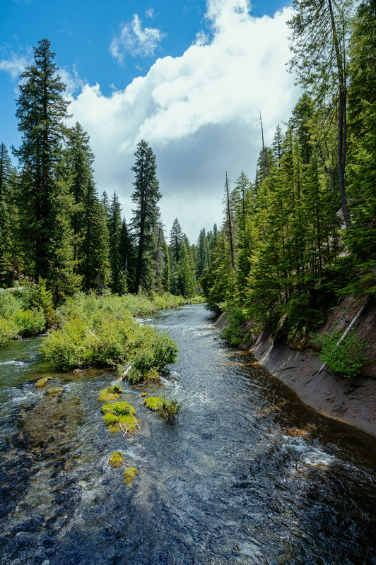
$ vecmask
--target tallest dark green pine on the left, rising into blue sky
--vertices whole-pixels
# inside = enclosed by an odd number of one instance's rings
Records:
[[[41,40],[34,64],[21,75],[16,117],[22,143],[14,153],[23,166],[18,204],[29,273],[45,278],[59,300],[76,290],[79,278],[74,275],[72,201],[61,170],[69,102],[54,57],[49,40]]]

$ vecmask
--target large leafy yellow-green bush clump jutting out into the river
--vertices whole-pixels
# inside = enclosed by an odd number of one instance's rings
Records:
[[[132,382],[174,363],[175,343],[136,321],[125,298],[79,294],[68,299],[56,312],[61,328],[50,331],[42,343],[45,359],[64,371],[133,364]]]

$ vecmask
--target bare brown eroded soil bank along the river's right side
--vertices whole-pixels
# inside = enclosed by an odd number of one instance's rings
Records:
[[[362,306],[362,302],[349,297],[331,311],[320,333],[345,331]],[[218,319],[217,327],[226,326],[225,314]],[[376,437],[376,316],[375,307],[368,305],[356,324],[358,338],[365,338],[366,355],[371,362],[364,364],[362,375],[346,379],[324,369],[317,352],[307,343],[288,345],[287,338],[275,338],[268,331],[257,335],[254,343],[242,343],[240,348],[249,350],[257,362],[268,369],[280,381],[290,387],[304,402],[322,415],[350,424]]]

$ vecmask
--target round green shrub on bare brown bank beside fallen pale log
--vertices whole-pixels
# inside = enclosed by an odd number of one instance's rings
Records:
[[[312,341],[322,347],[319,358],[327,364],[328,369],[342,376],[356,376],[363,363],[369,360],[365,357],[365,340],[359,340],[353,329],[337,345],[340,337],[341,331],[336,331],[331,335],[317,335]]]

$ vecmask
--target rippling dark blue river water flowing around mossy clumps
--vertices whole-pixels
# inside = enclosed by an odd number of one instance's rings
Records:
[[[124,397],[141,429],[110,434],[111,371],[53,371],[42,337],[0,352],[1,565],[376,564],[375,440],[327,420],[227,347],[198,304],[148,322],[180,360]],[[58,396],[37,388],[41,376]],[[141,392],[176,398],[168,424]],[[138,469],[131,487],[108,458]]]

